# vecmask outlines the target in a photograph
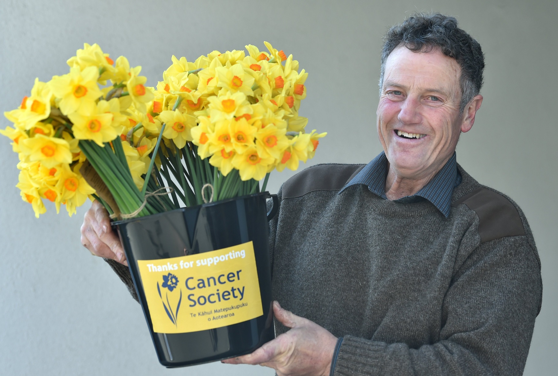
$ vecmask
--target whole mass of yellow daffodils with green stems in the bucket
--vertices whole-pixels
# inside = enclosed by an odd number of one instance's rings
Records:
[[[4,113],[23,200],[37,217],[44,199],[71,216],[89,197],[129,218],[201,204],[208,186],[215,201],[259,192],[261,179],[264,191],[273,169],[296,170],[325,135],[299,116],[307,73],[264,43],[172,56],[156,88],[126,57],[85,44],[68,74],[37,79]]]

